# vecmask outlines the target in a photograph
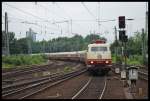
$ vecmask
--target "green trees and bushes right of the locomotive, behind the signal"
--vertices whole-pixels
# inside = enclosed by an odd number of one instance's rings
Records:
[[[145,33],[142,34],[140,32],[135,32],[134,36],[129,37],[128,42],[126,43],[126,55],[129,59],[127,59],[127,62],[129,64],[148,64],[148,59],[144,59],[142,55],[142,44],[145,36]],[[148,37],[146,37],[147,40]],[[118,55],[121,56],[121,46],[122,43],[118,41]],[[146,42],[146,46],[148,47],[148,43]],[[148,52],[148,48],[146,47],[146,52]],[[115,54],[115,48],[116,48],[116,42],[113,42],[111,44],[111,52],[112,54]]]

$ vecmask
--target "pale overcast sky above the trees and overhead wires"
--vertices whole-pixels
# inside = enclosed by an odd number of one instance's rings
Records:
[[[95,32],[112,43],[119,16],[134,19],[126,21],[128,36],[145,28],[146,2],[2,2],[2,30],[5,12],[9,31],[15,32],[17,38],[25,37],[31,28],[38,33],[39,41],[74,34],[85,37]],[[116,21],[103,22],[114,19]]]

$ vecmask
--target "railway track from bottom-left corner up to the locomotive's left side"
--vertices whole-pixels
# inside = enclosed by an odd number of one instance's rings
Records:
[[[32,84],[30,86],[26,86],[18,91],[14,91],[9,94],[3,95],[3,99],[23,99],[23,98],[29,97],[51,86],[54,86],[60,82],[63,82],[69,78],[77,76],[85,71],[86,71],[86,68],[82,68],[81,70],[76,70],[76,71],[73,71],[64,75],[57,76],[54,79],[49,79],[49,80],[45,80],[39,83]]]

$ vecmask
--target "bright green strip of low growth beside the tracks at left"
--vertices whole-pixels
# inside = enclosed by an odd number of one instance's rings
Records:
[[[47,59],[48,58],[44,55],[2,56],[2,68],[15,68],[16,66],[42,64],[42,63],[46,63]]]

